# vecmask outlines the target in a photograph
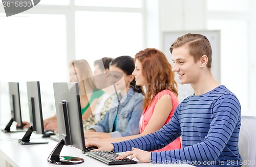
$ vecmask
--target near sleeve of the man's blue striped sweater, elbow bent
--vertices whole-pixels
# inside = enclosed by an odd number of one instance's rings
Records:
[[[212,108],[210,128],[202,142],[182,149],[152,152],[152,162],[173,163],[216,161],[230,140],[235,127],[239,123],[241,119],[240,115],[241,107],[234,95],[225,94],[220,96]],[[200,121],[200,119],[198,120]],[[174,122],[171,122],[166,126],[171,127],[173,124]],[[165,134],[172,133],[167,127],[157,131],[154,135],[165,136]],[[193,139],[193,136],[191,136],[191,139]]]

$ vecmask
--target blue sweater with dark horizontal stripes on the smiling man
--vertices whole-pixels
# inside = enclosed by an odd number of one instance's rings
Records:
[[[130,151],[132,147],[158,150],[181,135],[181,149],[152,152],[151,162],[240,166],[240,126],[237,97],[225,86],[219,86],[200,96],[188,96],[178,105],[172,119],[155,133],[113,143],[114,152]]]

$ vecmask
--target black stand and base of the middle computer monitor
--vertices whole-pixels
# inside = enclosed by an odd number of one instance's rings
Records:
[[[22,139],[18,140],[18,143],[21,145],[34,145],[34,144],[47,144],[46,140],[41,140],[41,139],[35,139],[33,142],[30,140],[30,136],[33,132],[33,126],[30,126],[30,128],[27,130],[27,132],[24,134]]]

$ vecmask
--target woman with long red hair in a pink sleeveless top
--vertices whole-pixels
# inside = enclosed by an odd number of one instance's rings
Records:
[[[133,75],[135,75],[136,85],[142,86],[145,90],[144,110],[139,124],[140,134],[106,138],[100,140],[101,142],[121,142],[154,133],[169,122],[178,105],[178,91],[174,80],[174,72],[165,55],[155,48],[146,48],[139,51],[134,60]],[[181,143],[180,138],[177,138],[174,142],[156,151],[179,148],[181,148]]]

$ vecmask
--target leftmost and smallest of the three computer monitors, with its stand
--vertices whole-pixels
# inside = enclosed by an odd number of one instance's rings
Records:
[[[4,132],[24,132],[22,123],[22,111],[20,109],[20,99],[19,99],[19,85],[18,82],[9,82],[9,96],[11,104],[11,120],[6,125]],[[19,124],[16,129],[11,130],[11,125],[13,122]]]

